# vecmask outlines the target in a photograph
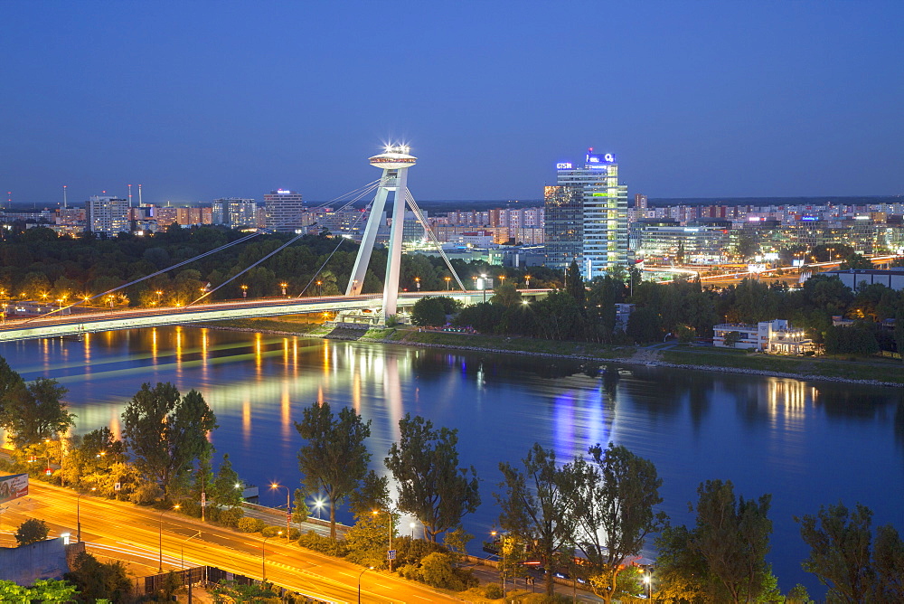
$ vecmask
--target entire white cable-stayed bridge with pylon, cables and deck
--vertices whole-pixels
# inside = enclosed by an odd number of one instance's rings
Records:
[[[343,313],[353,317],[353,319],[361,320],[370,324],[385,324],[391,317],[396,316],[399,307],[410,307],[421,297],[427,296],[448,296],[463,302],[465,305],[475,304],[476,302],[486,300],[486,290],[481,279],[481,290],[468,291],[461,278],[457,275],[456,270],[452,267],[445,251],[433,231],[430,229],[428,222],[425,220],[423,212],[420,211],[418,204],[414,201],[408,189],[408,170],[415,165],[417,158],[410,155],[408,146],[387,146],[384,153],[370,158],[371,165],[382,170],[379,180],[359,187],[350,193],[346,193],[343,197],[351,197],[351,201],[344,203],[343,208],[352,205],[362,199],[367,193],[375,191],[375,195],[368,207],[371,212],[368,217],[367,225],[363,232],[363,240],[358,250],[357,258],[354,262],[352,274],[348,276],[348,285],[345,288],[344,296],[333,297],[304,297],[305,291],[302,291],[299,297],[281,297],[281,298],[262,298],[262,299],[246,299],[231,300],[222,302],[213,302],[212,294],[219,288],[229,284],[231,281],[240,278],[250,269],[258,266],[261,262],[268,260],[279,251],[284,250],[289,245],[298,241],[302,234],[290,239],[276,250],[269,252],[263,258],[250,264],[240,270],[237,274],[227,279],[223,283],[217,285],[216,288],[202,291],[202,295],[197,299],[189,302],[183,307],[151,307],[151,308],[129,308],[125,310],[115,310],[112,308],[109,312],[97,313],[72,313],[66,314],[73,307],[79,307],[82,303],[91,300],[102,300],[103,298],[113,299],[115,292],[136,286],[137,284],[154,278],[157,275],[168,272],[170,270],[181,268],[195,260],[201,260],[212,254],[216,254],[222,250],[231,248],[234,245],[240,245],[245,241],[250,241],[259,235],[251,233],[239,240],[231,241],[214,250],[208,250],[202,254],[189,259],[183,260],[174,266],[161,269],[151,275],[137,278],[129,283],[109,289],[95,296],[85,297],[79,302],[75,302],[68,307],[60,307],[57,310],[47,313],[46,315],[24,319],[21,321],[10,321],[0,327],[0,342],[24,340],[41,337],[55,337],[62,335],[80,335],[98,331],[110,331],[118,329],[131,329],[137,327],[154,327],[166,325],[182,325],[188,323],[202,323],[210,321],[223,321],[238,318],[258,318],[263,316],[279,316],[279,315],[301,315],[312,313]],[[381,220],[384,208],[387,206],[387,200],[392,196],[392,213],[391,227],[388,244],[388,254],[386,259],[386,273],[383,279],[382,295],[362,294],[364,278],[367,274],[368,264],[371,260],[371,253],[374,242],[377,237],[377,231],[381,227]],[[340,198],[337,198],[340,199]],[[328,202],[332,203],[332,202]],[[328,204],[327,203],[327,204]],[[326,204],[324,204],[325,207]],[[438,292],[400,292],[399,276],[401,265],[401,243],[404,226],[405,208],[410,207],[414,212],[424,231],[429,238],[436,244],[439,255],[446,262],[446,266],[451,274],[447,277],[447,282],[451,284],[454,278],[457,289],[451,288],[448,291]],[[322,271],[329,260],[333,257],[336,250],[343,244],[344,238],[339,238],[333,253],[327,257],[317,274],[311,278],[307,288],[315,282],[315,278]],[[244,288],[244,286],[242,286]],[[542,297],[548,290],[532,289],[523,290],[522,296]],[[285,287],[283,294],[286,294]]]

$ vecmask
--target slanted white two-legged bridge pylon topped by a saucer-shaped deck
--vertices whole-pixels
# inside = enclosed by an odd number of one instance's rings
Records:
[[[371,165],[381,168],[383,175],[376,197],[371,206],[371,215],[364,227],[364,235],[358,257],[354,260],[352,277],[345,288],[346,296],[357,296],[364,285],[364,276],[367,274],[367,265],[371,261],[373,241],[376,240],[377,230],[380,228],[383,209],[389,193],[392,198],[392,225],[390,229],[389,254],[386,258],[386,277],[383,279],[383,308],[382,322],[396,314],[399,300],[399,269],[401,263],[401,238],[405,224],[405,203],[408,192],[408,169],[415,165],[418,158],[410,155],[410,148],[405,145],[386,146],[379,156],[372,156]]]

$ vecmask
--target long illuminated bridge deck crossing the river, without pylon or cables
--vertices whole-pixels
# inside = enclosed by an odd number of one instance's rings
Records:
[[[522,297],[544,297],[549,289],[523,289]],[[425,291],[400,292],[399,307],[413,307],[423,297],[448,296],[465,305],[476,304],[492,296],[492,291]],[[43,337],[61,337],[118,331],[140,327],[159,327],[209,323],[239,318],[280,315],[306,315],[360,311],[360,320],[378,323],[382,309],[381,294],[359,296],[324,296],[298,298],[261,298],[226,300],[190,307],[129,308],[126,310],[86,312],[72,315],[42,316],[7,321],[0,329],[0,342],[14,342]],[[350,317],[351,318],[351,317]]]

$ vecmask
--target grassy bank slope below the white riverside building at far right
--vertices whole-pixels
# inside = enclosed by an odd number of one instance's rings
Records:
[[[749,354],[735,350],[695,350],[681,347],[659,355],[666,363],[749,369],[761,372],[795,373],[814,378],[876,380],[904,384],[904,366],[900,361],[869,359],[848,361],[835,358]]]

